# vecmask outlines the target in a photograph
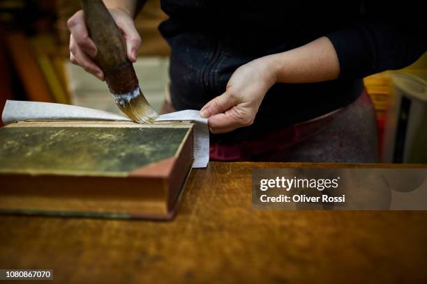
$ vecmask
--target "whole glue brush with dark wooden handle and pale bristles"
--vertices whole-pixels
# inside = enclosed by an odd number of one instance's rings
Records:
[[[117,107],[137,123],[153,123],[156,111],[145,99],[132,63],[126,56],[123,34],[101,0],[82,0],[89,36],[98,48],[94,61],[104,72]]]

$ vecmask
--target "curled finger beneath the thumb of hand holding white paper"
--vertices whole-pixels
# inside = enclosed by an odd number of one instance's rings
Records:
[[[251,125],[255,116],[250,110],[241,107],[233,107],[225,111],[213,115],[208,120],[209,129],[213,134],[230,132],[239,127]]]

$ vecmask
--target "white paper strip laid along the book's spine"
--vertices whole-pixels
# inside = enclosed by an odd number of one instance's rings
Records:
[[[129,118],[107,111],[77,107],[69,104],[50,102],[23,102],[7,100],[1,119],[4,125],[17,121],[49,120],[116,120],[130,121]],[[202,118],[199,111],[186,110],[161,115],[157,121],[191,121],[194,127],[194,163],[193,168],[206,168],[209,162],[209,130],[207,118]]]

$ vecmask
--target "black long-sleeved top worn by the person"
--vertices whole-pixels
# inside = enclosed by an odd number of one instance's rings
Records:
[[[200,109],[225,91],[240,65],[322,36],[338,54],[337,80],[276,84],[253,125],[212,139],[241,141],[354,102],[361,78],[403,68],[427,49],[426,17],[418,2],[363,2],[162,0],[170,16],[159,29],[172,47],[172,104],[177,110]]]

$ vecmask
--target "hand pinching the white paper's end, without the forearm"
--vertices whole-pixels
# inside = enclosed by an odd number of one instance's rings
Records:
[[[275,83],[276,64],[271,56],[250,61],[237,68],[225,93],[205,104],[200,115],[209,118],[214,134],[251,125],[267,90]]]

